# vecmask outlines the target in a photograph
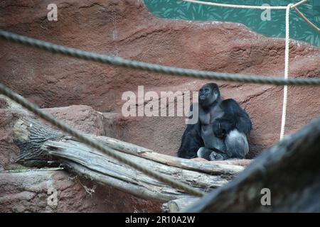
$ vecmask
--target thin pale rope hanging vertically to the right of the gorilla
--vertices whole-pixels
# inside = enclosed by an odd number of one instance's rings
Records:
[[[284,79],[288,79],[289,74],[289,28],[290,28],[290,21],[289,21],[289,14],[290,14],[290,7],[292,4],[287,6],[286,10],[286,46],[284,50]],[[286,117],[287,117],[287,99],[288,99],[288,86],[284,85],[283,88],[283,103],[282,103],[282,117],[281,117],[281,131],[280,131],[280,140],[284,138],[284,129],[286,125]]]

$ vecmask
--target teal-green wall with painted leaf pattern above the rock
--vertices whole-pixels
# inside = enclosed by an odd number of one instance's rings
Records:
[[[200,0],[205,1],[205,0]],[[287,6],[298,0],[206,0],[224,4]],[[242,23],[252,31],[271,36],[285,36],[285,10],[271,10],[271,20],[262,21],[263,10],[259,9],[229,9],[216,6],[191,4],[181,0],[144,0],[144,4],[154,16],[173,20],[192,21],[231,21]],[[320,0],[309,0],[298,8],[306,18],[320,27]],[[320,33],[314,31],[300,18],[295,11],[290,13],[290,38],[302,40],[320,47]]]

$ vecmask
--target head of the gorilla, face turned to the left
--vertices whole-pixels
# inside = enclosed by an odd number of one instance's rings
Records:
[[[208,107],[217,103],[220,100],[219,87],[215,83],[209,83],[203,85],[199,90],[198,101],[203,107]]]

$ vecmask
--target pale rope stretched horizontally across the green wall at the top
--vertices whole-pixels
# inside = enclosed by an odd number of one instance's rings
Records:
[[[221,4],[215,2],[208,2],[208,1],[196,1],[196,0],[182,0],[188,1],[194,4],[202,4],[206,6],[218,6],[218,7],[226,7],[226,8],[235,8],[235,9],[287,9],[287,6],[245,6],[245,5],[233,5],[233,4]],[[297,2],[297,4],[292,4],[290,9],[294,9],[301,4],[304,4],[308,0],[302,0]]]

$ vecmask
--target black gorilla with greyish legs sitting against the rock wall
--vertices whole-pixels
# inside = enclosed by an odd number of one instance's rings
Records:
[[[245,158],[252,123],[237,101],[222,100],[218,85],[209,83],[201,87],[198,103],[192,104],[190,109],[193,114],[198,111],[198,122],[186,127],[178,157],[203,157],[206,160]]]

